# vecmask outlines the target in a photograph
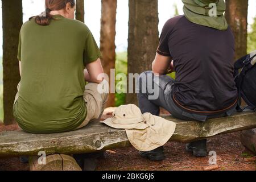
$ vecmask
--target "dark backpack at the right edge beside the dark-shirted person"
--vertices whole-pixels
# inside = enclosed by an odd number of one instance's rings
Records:
[[[242,70],[239,73],[240,69]],[[236,61],[234,79],[238,90],[237,111],[241,112],[244,109],[256,111],[256,50]],[[241,107],[242,98],[248,105],[244,109]]]

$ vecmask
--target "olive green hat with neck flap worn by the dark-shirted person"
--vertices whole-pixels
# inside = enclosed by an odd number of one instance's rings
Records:
[[[224,16],[226,4],[224,0],[182,0],[185,17],[192,23],[227,30],[228,23]],[[217,16],[210,16],[210,3],[216,3]]]

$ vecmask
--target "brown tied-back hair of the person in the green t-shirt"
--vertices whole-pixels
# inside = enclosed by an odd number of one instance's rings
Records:
[[[47,26],[49,25],[50,20],[53,19],[53,16],[50,14],[50,12],[65,9],[67,3],[71,3],[71,7],[76,5],[75,0],[46,0],[46,11],[38,16],[32,16],[30,20],[35,18],[35,22],[37,24]]]

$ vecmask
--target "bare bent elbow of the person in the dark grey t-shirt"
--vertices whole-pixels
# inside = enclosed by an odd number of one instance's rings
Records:
[[[152,63],[152,71],[158,75],[166,75],[174,72],[174,63],[170,56],[162,56],[156,53],[155,60]]]

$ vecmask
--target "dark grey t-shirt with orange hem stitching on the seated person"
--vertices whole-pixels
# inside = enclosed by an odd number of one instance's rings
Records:
[[[181,106],[208,112],[224,110],[237,101],[230,27],[221,31],[176,16],[163,27],[158,53],[174,60],[173,94]]]

